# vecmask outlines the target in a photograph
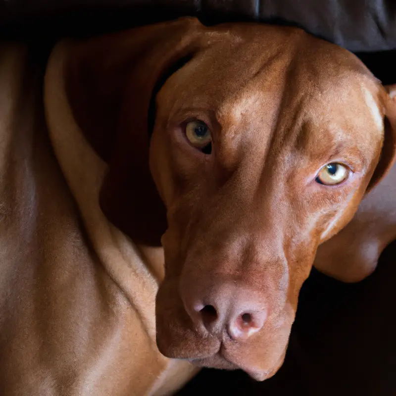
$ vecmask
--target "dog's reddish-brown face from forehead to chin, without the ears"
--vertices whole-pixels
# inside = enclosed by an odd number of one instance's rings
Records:
[[[373,174],[379,87],[345,51],[306,44],[305,54],[276,42],[214,46],[156,97],[166,356],[275,373],[316,249],[350,220]]]

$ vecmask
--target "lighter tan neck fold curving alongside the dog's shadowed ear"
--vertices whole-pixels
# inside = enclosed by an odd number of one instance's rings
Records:
[[[164,275],[163,249],[134,244],[100,209],[99,191],[107,164],[86,141],[72,115],[62,77],[66,53],[62,46],[53,51],[45,77],[49,137],[80,211],[87,238],[108,274],[138,307],[148,333],[154,337],[155,295]]]

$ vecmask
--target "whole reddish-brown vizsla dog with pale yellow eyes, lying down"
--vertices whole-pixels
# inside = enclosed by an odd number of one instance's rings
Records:
[[[299,29],[62,43],[44,91],[54,154],[22,143],[44,154],[1,192],[6,395],[163,395],[196,366],[265,380],[312,265],[358,281],[396,237],[392,88]]]

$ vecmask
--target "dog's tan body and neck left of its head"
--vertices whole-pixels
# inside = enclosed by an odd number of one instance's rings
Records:
[[[0,394],[172,393],[196,369],[155,347],[161,251],[134,245],[101,215],[94,194],[104,164],[80,145],[58,96],[60,146],[86,166],[53,154],[37,56],[2,53]]]

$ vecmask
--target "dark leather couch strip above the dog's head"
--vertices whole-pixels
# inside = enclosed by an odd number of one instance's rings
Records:
[[[296,24],[351,51],[396,47],[394,0],[0,0],[0,30],[14,34],[104,31],[180,15]]]

